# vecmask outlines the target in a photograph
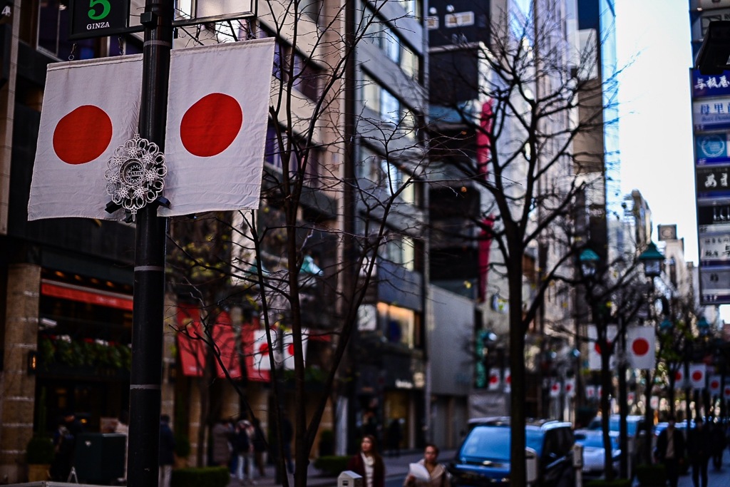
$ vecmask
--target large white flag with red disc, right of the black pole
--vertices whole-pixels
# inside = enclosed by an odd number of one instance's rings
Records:
[[[274,39],[173,50],[161,216],[258,208]]]

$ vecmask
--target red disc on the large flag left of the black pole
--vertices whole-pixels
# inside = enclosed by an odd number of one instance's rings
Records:
[[[64,115],[53,131],[53,150],[66,164],[86,164],[101,156],[112,142],[112,120],[93,105]]]

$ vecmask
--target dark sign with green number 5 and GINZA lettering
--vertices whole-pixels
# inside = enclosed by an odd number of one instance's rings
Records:
[[[69,39],[88,39],[129,32],[128,21],[129,0],[71,0]]]

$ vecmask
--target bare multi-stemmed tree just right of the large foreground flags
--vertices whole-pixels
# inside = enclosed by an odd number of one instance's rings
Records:
[[[284,371],[277,348],[285,335],[291,337],[296,486],[307,484],[310,450],[337,389],[358,308],[376,275],[383,276],[376,269],[393,260],[402,264],[385,250],[395,248],[402,257],[420,245],[415,243],[419,210],[410,195],[426,162],[417,131],[423,107],[374,117],[352,103],[371,83],[356,66],[359,46],[387,37],[388,26],[399,20],[412,20],[386,17],[392,9],[386,12],[385,5],[372,1],[365,9],[354,2],[272,0],[259,2],[258,18],[187,32],[191,43],[277,39],[274,66],[252,68],[273,74],[262,206],[175,221],[171,263],[174,284],[202,310],[210,310],[211,318],[201,319],[203,329],[193,336],[210,350],[203,382],[213,380],[216,362],[226,365],[212,337],[215,315],[241,302],[258,313],[268,344],[278,418],[272,440],[280,472],[285,472]],[[401,88],[421,89],[416,80]],[[353,150],[363,142],[372,150]],[[398,285],[395,280],[393,285]],[[326,326],[315,330],[312,317]],[[331,338],[326,356],[315,358],[322,372],[320,393],[307,391],[312,364],[305,364],[304,347],[312,334]],[[210,421],[204,415],[201,411],[201,419]],[[201,432],[199,450],[203,444]],[[288,485],[286,475],[282,480]]]

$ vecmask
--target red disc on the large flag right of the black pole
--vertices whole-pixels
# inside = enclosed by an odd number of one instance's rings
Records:
[[[193,103],[180,122],[180,141],[193,156],[216,156],[236,139],[243,111],[233,96],[210,93]]]

